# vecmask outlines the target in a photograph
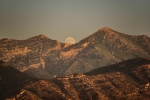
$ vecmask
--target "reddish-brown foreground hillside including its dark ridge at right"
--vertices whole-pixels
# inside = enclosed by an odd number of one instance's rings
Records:
[[[84,74],[29,81],[22,85],[17,95],[8,99],[12,98],[17,100],[149,100],[150,58],[130,59]]]

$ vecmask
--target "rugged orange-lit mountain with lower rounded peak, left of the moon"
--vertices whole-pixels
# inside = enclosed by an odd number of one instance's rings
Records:
[[[21,72],[48,78],[51,75],[45,69],[45,57],[56,58],[64,45],[43,35],[27,40],[4,38],[0,40],[0,59]]]

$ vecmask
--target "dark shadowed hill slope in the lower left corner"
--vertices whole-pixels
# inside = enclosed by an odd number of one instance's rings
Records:
[[[12,97],[21,90],[22,86],[30,81],[35,81],[33,78],[17,69],[9,66],[7,63],[0,60],[0,99]]]

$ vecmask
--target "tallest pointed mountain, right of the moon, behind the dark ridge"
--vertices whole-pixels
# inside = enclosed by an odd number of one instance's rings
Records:
[[[149,57],[150,37],[127,35],[104,27],[68,48],[67,52],[72,49],[79,52],[68,72],[86,72],[98,65],[103,67],[128,59]]]

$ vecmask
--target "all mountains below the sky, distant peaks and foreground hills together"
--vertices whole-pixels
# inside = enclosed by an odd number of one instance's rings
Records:
[[[149,100],[150,37],[104,27],[76,44],[0,39],[0,100]]]

